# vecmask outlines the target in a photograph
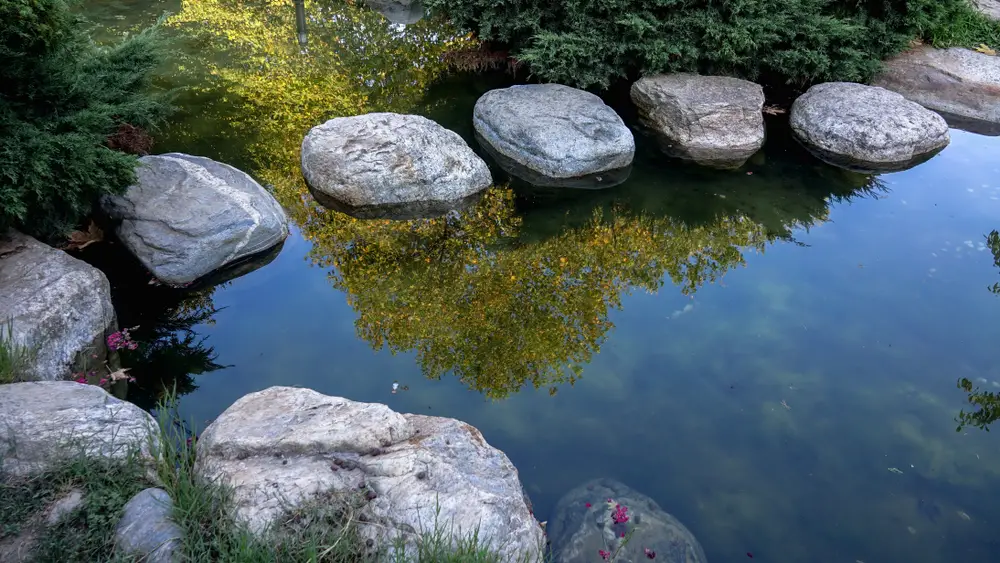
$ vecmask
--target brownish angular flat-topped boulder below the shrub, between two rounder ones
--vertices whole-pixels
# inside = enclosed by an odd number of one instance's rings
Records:
[[[736,168],[764,145],[764,90],[753,82],[658,74],[633,84],[631,96],[640,120],[671,156]]]

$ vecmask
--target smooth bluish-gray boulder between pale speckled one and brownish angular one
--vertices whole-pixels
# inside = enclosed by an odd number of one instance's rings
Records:
[[[561,84],[490,90],[476,101],[473,125],[493,152],[549,178],[625,168],[635,153],[632,132],[614,110]]]

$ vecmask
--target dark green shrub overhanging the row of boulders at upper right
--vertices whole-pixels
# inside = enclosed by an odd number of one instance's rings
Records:
[[[546,81],[607,87],[696,71],[805,85],[865,81],[914,38],[989,42],[968,0],[427,0]],[[952,29],[958,26],[960,29]]]

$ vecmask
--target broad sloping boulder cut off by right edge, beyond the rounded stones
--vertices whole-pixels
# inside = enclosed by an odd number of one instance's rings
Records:
[[[941,113],[954,127],[1000,135],[1000,57],[918,47],[887,61],[873,84]]]

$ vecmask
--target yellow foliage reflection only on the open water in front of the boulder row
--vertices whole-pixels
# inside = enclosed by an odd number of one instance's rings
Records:
[[[666,274],[693,293],[768,240],[745,217],[687,227],[597,209],[581,228],[525,243],[505,188],[440,219],[365,221],[307,202],[297,211],[361,337],[415,351],[428,377],[452,373],[491,398],[572,383],[624,292],[655,291]]]

